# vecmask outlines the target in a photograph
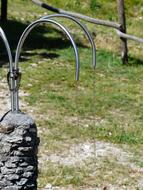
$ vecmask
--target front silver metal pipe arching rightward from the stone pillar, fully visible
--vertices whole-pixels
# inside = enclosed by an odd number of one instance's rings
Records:
[[[69,33],[69,31],[61,24],[59,24],[58,22],[54,21],[54,20],[50,20],[50,19],[40,19],[37,20],[35,22],[33,22],[32,24],[30,24],[25,31],[23,32],[22,36],[20,37],[20,40],[18,42],[17,48],[16,48],[16,55],[15,55],[15,62],[14,62],[14,69],[18,70],[18,62],[19,62],[19,56],[20,56],[20,51],[22,48],[22,45],[24,44],[24,41],[26,40],[28,34],[30,33],[30,31],[35,28],[37,25],[41,24],[41,23],[51,23],[51,24],[55,24],[57,25],[59,28],[61,28],[69,37],[73,48],[74,48],[74,52],[75,52],[75,58],[76,58],[76,75],[75,78],[76,80],[79,79],[79,55],[78,55],[78,49],[77,46],[71,36],[71,34]],[[15,87],[17,86],[17,80],[15,80]],[[18,90],[16,92],[14,92],[14,104],[13,104],[14,110],[16,112],[19,111],[19,98],[18,98]]]

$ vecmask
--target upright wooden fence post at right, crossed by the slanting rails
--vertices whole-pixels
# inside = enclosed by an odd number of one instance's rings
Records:
[[[125,16],[125,6],[124,0],[117,0],[118,3],[118,16],[119,16],[119,23],[121,25],[120,31],[126,34],[126,16]],[[123,64],[128,62],[128,46],[127,46],[127,39],[121,39],[121,57]]]

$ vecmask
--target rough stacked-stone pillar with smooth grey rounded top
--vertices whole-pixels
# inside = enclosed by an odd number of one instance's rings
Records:
[[[39,139],[33,119],[8,113],[0,122],[0,189],[37,190]]]

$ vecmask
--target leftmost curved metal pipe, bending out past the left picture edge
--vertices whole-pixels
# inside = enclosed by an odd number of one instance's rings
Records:
[[[11,75],[11,77],[10,77],[10,88],[13,89],[14,81],[12,79],[12,74],[13,74],[12,54],[11,54],[11,49],[10,49],[8,40],[6,38],[6,35],[5,35],[5,33],[1,27],[0,27],[0,36],[4,42],[4,45],[5,45],[6,50],[7,50],[8,58],[9,58],[9,73]],[[11,110],[14,111],[14,93],[13,93],[13,91],[11,91],[10,97],[11,97]]]

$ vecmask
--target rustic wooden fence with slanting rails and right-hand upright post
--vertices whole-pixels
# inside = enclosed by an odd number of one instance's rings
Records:
[[[124,0],[117,0],[119,23],[107,21],[107,20],[95,19],[95,18],[85,16],[85,15],[82,15],[79,13],[65,11],[63,9],[59,9],[59,8],[53,7],[51,5],[48,5],[46,3],[43,3],[40,0],[32,0],[32,2],[36,3],[37,5],[45,8],[49,11],[55,12],[55,13],[70,15],[70,16],[76,17],[78,19],[88,21],[93,24],[111,27],[111,28],[115,29],[117,35],[121,39],[121,57],[122,57],[123,64],[126,64],[128,62],[127,40],[134,40],[134,41],[143,43],[143,38],[139,38],[137,36],[126,34],[126,18],[125,18]]]

